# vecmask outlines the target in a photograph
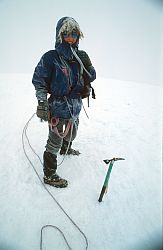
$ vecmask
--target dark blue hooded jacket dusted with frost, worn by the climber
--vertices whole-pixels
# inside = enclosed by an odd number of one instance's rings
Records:
[[[46,52],[35,68],[32,83],[36,89],[38,100],[47,100],[50,93],[49,108],[52,117],[70,119],[78,117],[81,107],[81,91],[84,86],[81,66],[74,58],[71,47],[78,51],[78,43],[73,45],[62,39],[62,32],[77,30],[79,38],[83,36],[78,23],[71,17],[61,18],[56,26],[55,50]],[[92,67],[87,69],[91,74],[91,81],[96,78]]]

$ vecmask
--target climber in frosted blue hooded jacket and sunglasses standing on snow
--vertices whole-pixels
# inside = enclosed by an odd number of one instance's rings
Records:
[[[96,79],[96,71],[87,53],[78,50],[82,37],[83,33],[74,18],[61,18],[56,26],[55,50],[41,57],[32,78],[38,100],[36,114],[49,122],[43,154],[44,183],[60,188],[67,187],[68,182],[56,172],[58,152],[79,154],[71,145],[77,135],[82,108],[83,65],[88,71],[87,80],[92,82]],[[48,93],[50,97],[47,99]]]

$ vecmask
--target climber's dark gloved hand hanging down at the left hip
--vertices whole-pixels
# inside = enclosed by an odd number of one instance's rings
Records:
[[[38,101],[37,106],[37,117],[39,117],[41,120],[48,121],[48,112],[49,112],[49,105],[48,101]]]

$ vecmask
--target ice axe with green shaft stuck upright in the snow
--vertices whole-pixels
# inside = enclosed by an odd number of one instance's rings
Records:
[[[100,197],[98,199],[99,202],[102,201],[102,198],[104,196],[104,193],[106,193],[107,191],[107,188],[108,188],[108,183],[109,183],[109,178],[110,178],[110,174],[111,174],[111,171],[112,171],[112,167],[114,165],[114,162],[115,161],[119,161],[119,160],[125,160],[124,158],[112,158],[110,160],[104,160],[104,162],[106,164],[109,164],[109,167],[108,167],[108,171],[107,171],[107,174],[106,174],[106,177],[105,177],[105,181],[104,181],[104,184],[103,184],[103,187],[101,189],[101,193],[100,193]]]

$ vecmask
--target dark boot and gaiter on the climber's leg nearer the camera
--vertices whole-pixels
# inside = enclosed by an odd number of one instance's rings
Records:
[[[45,151],[43,155],[44,159],[44,183],[57,188],[67,187],[68,182],[65,179],[59,177],[56,173],[57,170],[57,156]]]

